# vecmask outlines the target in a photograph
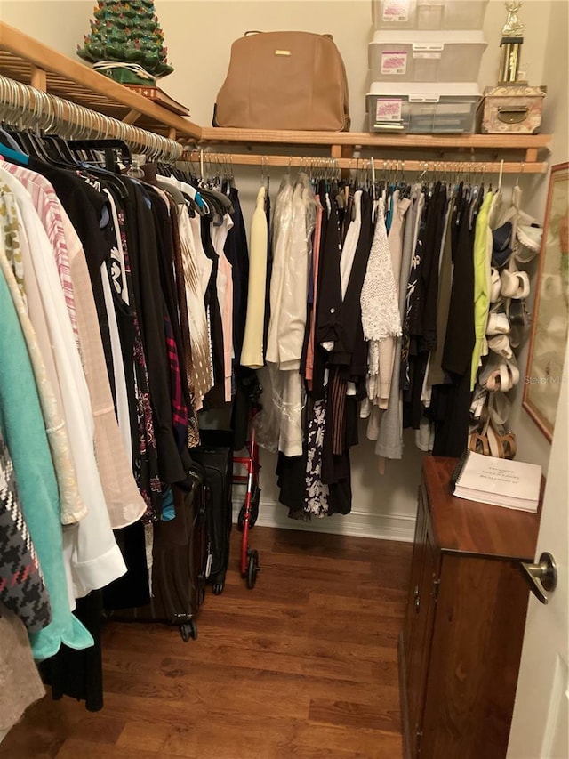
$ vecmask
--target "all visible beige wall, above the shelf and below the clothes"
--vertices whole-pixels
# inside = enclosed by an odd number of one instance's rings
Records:
[[[303,29],[333,35],[346,63],[349,77],[352,129],[365,129],[367,90],[367,43],[372,33],[371,3],[368,0],[156,0],[156,12],[164,28],[174,73],[162,86],[172,97],[186,103],[198,124],[211,124],[215,95],[228,67],[231,42],[247,29]],[[90,0],[2,0],[2,20],[27,31],[46,44],[73,55],[87,32],[92,17]],[[522,61],[530,83],[546,84],[544,131],[555,134],[553,159],[567,159],[567,2],[530,0],[522,12],[525,45]],[[495,84],[499,61],[504,5],[491,0],[485,17],[485,52],[479,85]],[[258,169],[238,169],[237,183],[244,201],[245,218],[250,219],[252,201],[259,185]],[[276,189],[279,175],[271,174]],[[507,178],[505,181],[508,192]],[[547,179],[524,177],[525,205],[542,219]],[[535,267],[533,267],[533,270]],[[524,374],[525,349],[520,359]],[[547,468],[549,444],[521,409],[521,385],[513,410],[514,429],[519,442],[519,457]],[[368,534],[376,537],[410,539],[413,536],[416,488],[420,476],[421,453],[413,445],[413,433],[405,435],[405,458],[390,462],[385,475],[377,473],[373,444],[365,440],[354,450],[353,513],[348,518],[335,516],[310,525],[291,522],[283,506],[276,505],[273,456],[263,456],[262,514],[266,521],[286,527]]]

